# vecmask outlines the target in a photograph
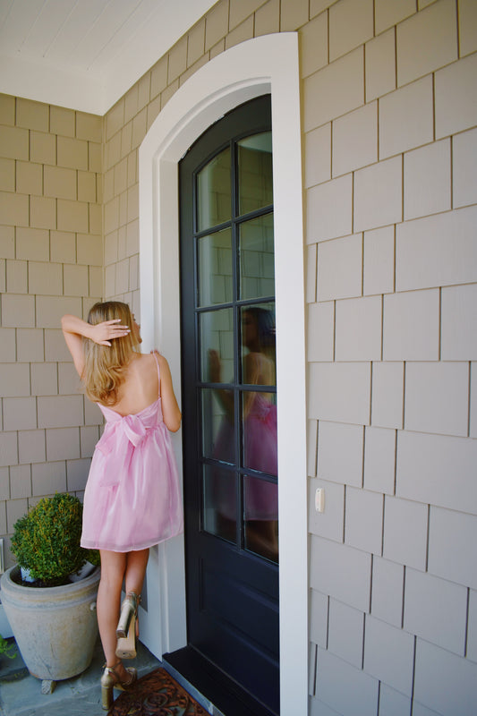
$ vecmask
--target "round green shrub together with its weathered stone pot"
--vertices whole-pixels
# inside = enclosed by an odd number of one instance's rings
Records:
[[[81,501],[72,495],[41,499],[14,524],[18,564],[0,580],[21,657],[32,676],[49,682],[87,669],[98,635],[98,553],[80,546],[81,518]],[[79,579],[87,560],[92,571]]]

